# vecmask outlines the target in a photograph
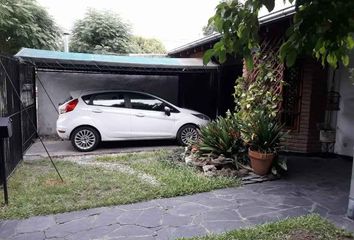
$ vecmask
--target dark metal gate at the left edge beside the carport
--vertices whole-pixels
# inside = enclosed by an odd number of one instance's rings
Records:
[[[3,150],[0,157],[5,160],[7,178],[36,137],[35,69],[15,58],[1,55],[0,117],[10,117],[13,127],[10,139],[0,139],[0,151]]]

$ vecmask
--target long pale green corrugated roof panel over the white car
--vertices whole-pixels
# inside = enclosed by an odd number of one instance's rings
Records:
[[[170,58],[170,57],[140,57],[140,56],[118,56],[102,55],[74,52],[58,52],[49,50],[39,50],[31,48],[22,48],[16,55],[19,58],[48,60],[48,61],[79,61],[95,63],[114,63],[124,66],[152,66],[152,67],[200,67],[216,68],[218,65],[209,63],[203,65],[199,58]]]

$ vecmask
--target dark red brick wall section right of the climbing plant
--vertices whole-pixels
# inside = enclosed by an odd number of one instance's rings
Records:
[[[298,129],[292,130],[283,144],[291,152],[320,152],[318,124],[324,121],[325,115],[326,70],[312,59],[301,61],[302,94]]]

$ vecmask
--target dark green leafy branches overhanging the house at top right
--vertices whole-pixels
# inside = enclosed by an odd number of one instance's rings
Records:
[[[284,0],[285,1],[285,0]],[[348,53],[354,48],[354,1],[352,0],[289,0],[296,6],[293,24],[280,49],[280,59],[288,66],[300,54],[311,54],[332,67],[349,64]],[[258,12],[262,7],[272,11],[275,0],[228,0],[216,7],[210,18],[222,34],[221,40],[204,55],[204,62],[216,56],[220,62],[227,55],[240,54],[248,68],[253,67],[252,54],[259,49]]]

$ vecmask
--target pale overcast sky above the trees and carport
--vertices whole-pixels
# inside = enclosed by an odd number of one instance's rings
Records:
[[[70,32],[88,8],[111,10],[132,27],[132,33],[162,41],[167,50],[203,37],[202,28],[220,0],[37,0],[56,23]],[[284,7],[276,0],[275,10]],[[261,11],[261,15],[267,11]]]

